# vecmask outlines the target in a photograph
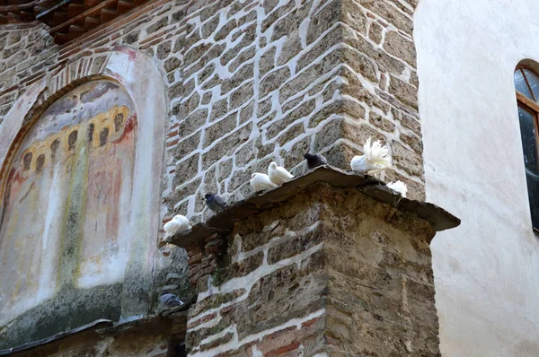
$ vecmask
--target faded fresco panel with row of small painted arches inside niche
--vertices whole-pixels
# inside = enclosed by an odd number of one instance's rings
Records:
[[[117,283],[128,262],[137,115],[119,85],[86,83],[22,141],[0,217],[0,325],[62,289]]]

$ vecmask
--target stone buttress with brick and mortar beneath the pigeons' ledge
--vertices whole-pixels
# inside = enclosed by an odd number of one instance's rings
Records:
[[[439,355],[433,237],[429,222],[356,188],[310,187],[188,248],[194,269],[216,258],[197,282],[188,352]]]

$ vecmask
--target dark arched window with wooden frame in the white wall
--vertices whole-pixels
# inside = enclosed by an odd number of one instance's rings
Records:
[[[515,88],[532,225],[534,230],[539,232],[539,75],[529,68],[518,67],[515,72]]]

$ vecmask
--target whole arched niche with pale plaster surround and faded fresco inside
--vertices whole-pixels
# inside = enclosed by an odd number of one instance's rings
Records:
[[[129,48],[67,65],[8,113],[0,125],[6,345],[147,314],[165,113],[161,74]]]

